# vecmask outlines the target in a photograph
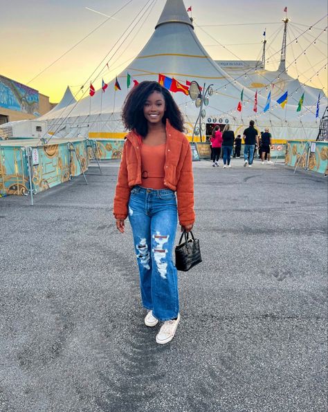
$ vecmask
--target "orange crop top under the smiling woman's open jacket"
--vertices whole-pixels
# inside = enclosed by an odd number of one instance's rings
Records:
[[[166,143],[157,146],[141,144],[142,183],[149,189],[167,189],[164,185]]]

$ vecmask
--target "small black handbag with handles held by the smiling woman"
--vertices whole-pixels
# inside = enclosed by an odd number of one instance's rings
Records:
[[[189,238],[189,233],[191,238]],[[184,236],[184,242],[181,243]],[[175,265],[177,270],[188,272],[194,265],[201,263],[201,250],[199,248],[199,239],[195,239],[192,232],[183,232],[179,245],[175,248]]]

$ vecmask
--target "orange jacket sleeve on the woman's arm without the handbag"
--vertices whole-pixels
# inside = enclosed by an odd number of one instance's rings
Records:
[[[127,218],[127,204],[129,203],[130,191],[127,180],[127,142],[125,142],[113,203],[113,215],[116,219]]]

